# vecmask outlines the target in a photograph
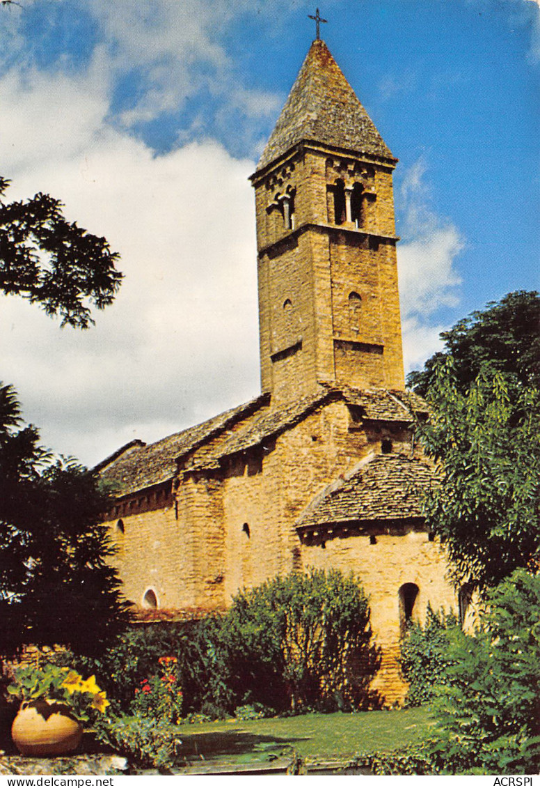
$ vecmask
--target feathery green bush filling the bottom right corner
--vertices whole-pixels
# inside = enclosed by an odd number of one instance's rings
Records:
[[[518,570],[494,589],[476,637],[453,630],[437,689],[434,756],[467,774],[540,767],[540,576]]]

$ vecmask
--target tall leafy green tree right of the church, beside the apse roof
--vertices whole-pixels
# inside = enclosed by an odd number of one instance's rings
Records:
[[[438,466],[427,523],[457,582],[481,592],[540,558],[540,390],[529,325],[539,306],[538,294],[512,293],[475,313],[446,335],[457,358],[436,354],[416,377],[431,406],[420,440]]]

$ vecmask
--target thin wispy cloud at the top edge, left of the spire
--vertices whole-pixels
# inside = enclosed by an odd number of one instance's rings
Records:
[[[266,3],[262,13],[272,12]],[[243,13],[253,13],[250,0],[87,0],[99,24],[114,72],[134,72],[144,90],[120,119],[128,128],[176,112],[204,90],[227,96],[229,110],[265,117],[279,108],[279,98],[242,85],[219,31]]]

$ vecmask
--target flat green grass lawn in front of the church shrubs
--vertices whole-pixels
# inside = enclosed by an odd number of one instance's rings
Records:
[[[272,760],[294,749],[304,758],[348,760],[357,752],[391,750],[418,742],[433,724],[424,708],[357,714],[305,714],[272,719],[226,719],[179,728],[187,760],[234,763]]]

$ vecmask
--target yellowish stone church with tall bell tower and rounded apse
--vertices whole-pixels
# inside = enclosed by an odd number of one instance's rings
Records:
[[[428,603],[458,608],[420,508],[434,478],[412,431],[427,407],[404,383],[397,162],[317,36],[250,177],[261,395],[98,466],[141,620],[224,610],[239,589],[306,567],[352,571],[387,704],[404,697],[408,620]]]

